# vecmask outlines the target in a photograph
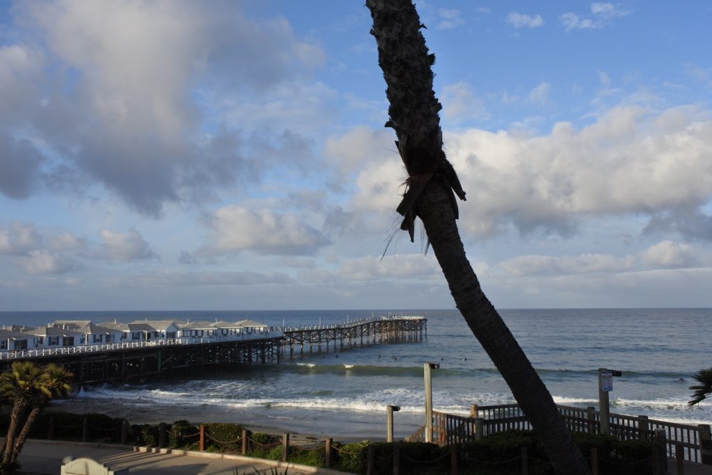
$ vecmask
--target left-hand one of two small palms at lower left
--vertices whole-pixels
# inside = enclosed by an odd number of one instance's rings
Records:
[[[12,449],[33,397],[41,392],[42,373],[41,367],[31,361],[16,361],[0,375],[0,394],[12,403],[10,424],[0,446],[1,465],[6,468],[11,466]]]

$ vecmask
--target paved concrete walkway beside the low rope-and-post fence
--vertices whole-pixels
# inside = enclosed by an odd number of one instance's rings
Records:
[[[144,449],[145,450],[145,449]],[[66,457],[88,457],[106,464],[111,469],[128,468],[131,475],[253,475],[273,474],[288,469],[290,475],[343,475],[344,472],[318,469],[313,466],[286,464],[277,461],[252,459],[238,455],[221,455],[210,452],[140,451],[134,447],[113,444],[83,444],[30,440],[19,458],[21,473],[31,475],[58,475]]]

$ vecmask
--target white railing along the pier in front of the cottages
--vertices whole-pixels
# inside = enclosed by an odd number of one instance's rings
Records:
[[[132,348],[155,348],[157,346],[200,345],[202,343],[224,343],[229,341],[265,340],[282,338],[284,333],[272,331],[265,333],[240,333],[239,335],[216,337],[184,337],[163,340],[121,341],[103,343],[101,345],[79,345],[57,348],[38,348],[36,350],[0,351],[0,360],[18,360],[33,357],[48,357],[61,355],[78,355],[81,353],[103,353],[113,350],[128,350]]]

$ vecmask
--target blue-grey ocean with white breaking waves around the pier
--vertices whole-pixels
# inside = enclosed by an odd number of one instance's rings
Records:
[[[712,366],[712,309],[501,310],[555,402],[598,405],[597,369],[622,371],[611,412],[684,424],[712,424],[712,402],[688,407],[694,372]],[[395,437],[424,424],[424,362],[434,409],[467,414],[470,404],[514,402],[511,392],[456,310],[2,312],[0,325],[53,320],[241,320],[318,325],[379,315],[424,315],[422,342],[380,344],[285,357],[141,385],[86,387],[53,403],[132,423],[240,422],[337,440],[385,438],[385,407],[397,404]]]

